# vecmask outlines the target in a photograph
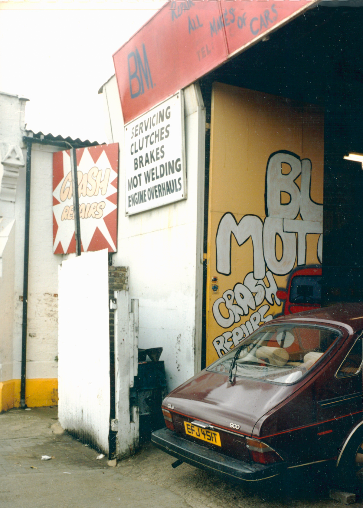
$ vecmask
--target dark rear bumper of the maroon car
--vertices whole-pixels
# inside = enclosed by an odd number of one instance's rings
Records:
[[[231,482],[267,480],[282,473],[286,468],[283,462],[268,465],[242,462],[188,441],[169,429],[155,430],[151,434],[151,441],[163,452],[192,466],[218,474]]]

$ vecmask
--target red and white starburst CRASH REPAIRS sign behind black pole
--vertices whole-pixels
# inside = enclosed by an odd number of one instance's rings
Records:
[[[81,250],[117,250],[118,143],[78,148]],[[53,252],[76,251],[70,150],[53,153]]]

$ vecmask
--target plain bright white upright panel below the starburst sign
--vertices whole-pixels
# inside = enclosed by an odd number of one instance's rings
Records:
[[[108,453],[110,337],[107,250],[59,269],[58,418],[63,429]]]

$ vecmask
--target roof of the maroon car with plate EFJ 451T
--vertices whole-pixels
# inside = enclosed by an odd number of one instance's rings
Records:
[[[275,322],[324,323],[350,328],[350,333],[363,329],[363,303],[340,303],[318,309],[277,317]],[[271,324],[271,322],[269,322]]]

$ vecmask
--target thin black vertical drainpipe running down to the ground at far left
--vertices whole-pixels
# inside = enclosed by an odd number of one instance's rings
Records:
[[[30,225],[30,169],[31,141],[26,141],[26,185],[25,185],[25,233],[24,233],[24,279],[23,279],[23,325],[21,339],[20,405],[25,409],[26,375],[26,331],[28,316],[28,268],[29,268],[29,225]]]

